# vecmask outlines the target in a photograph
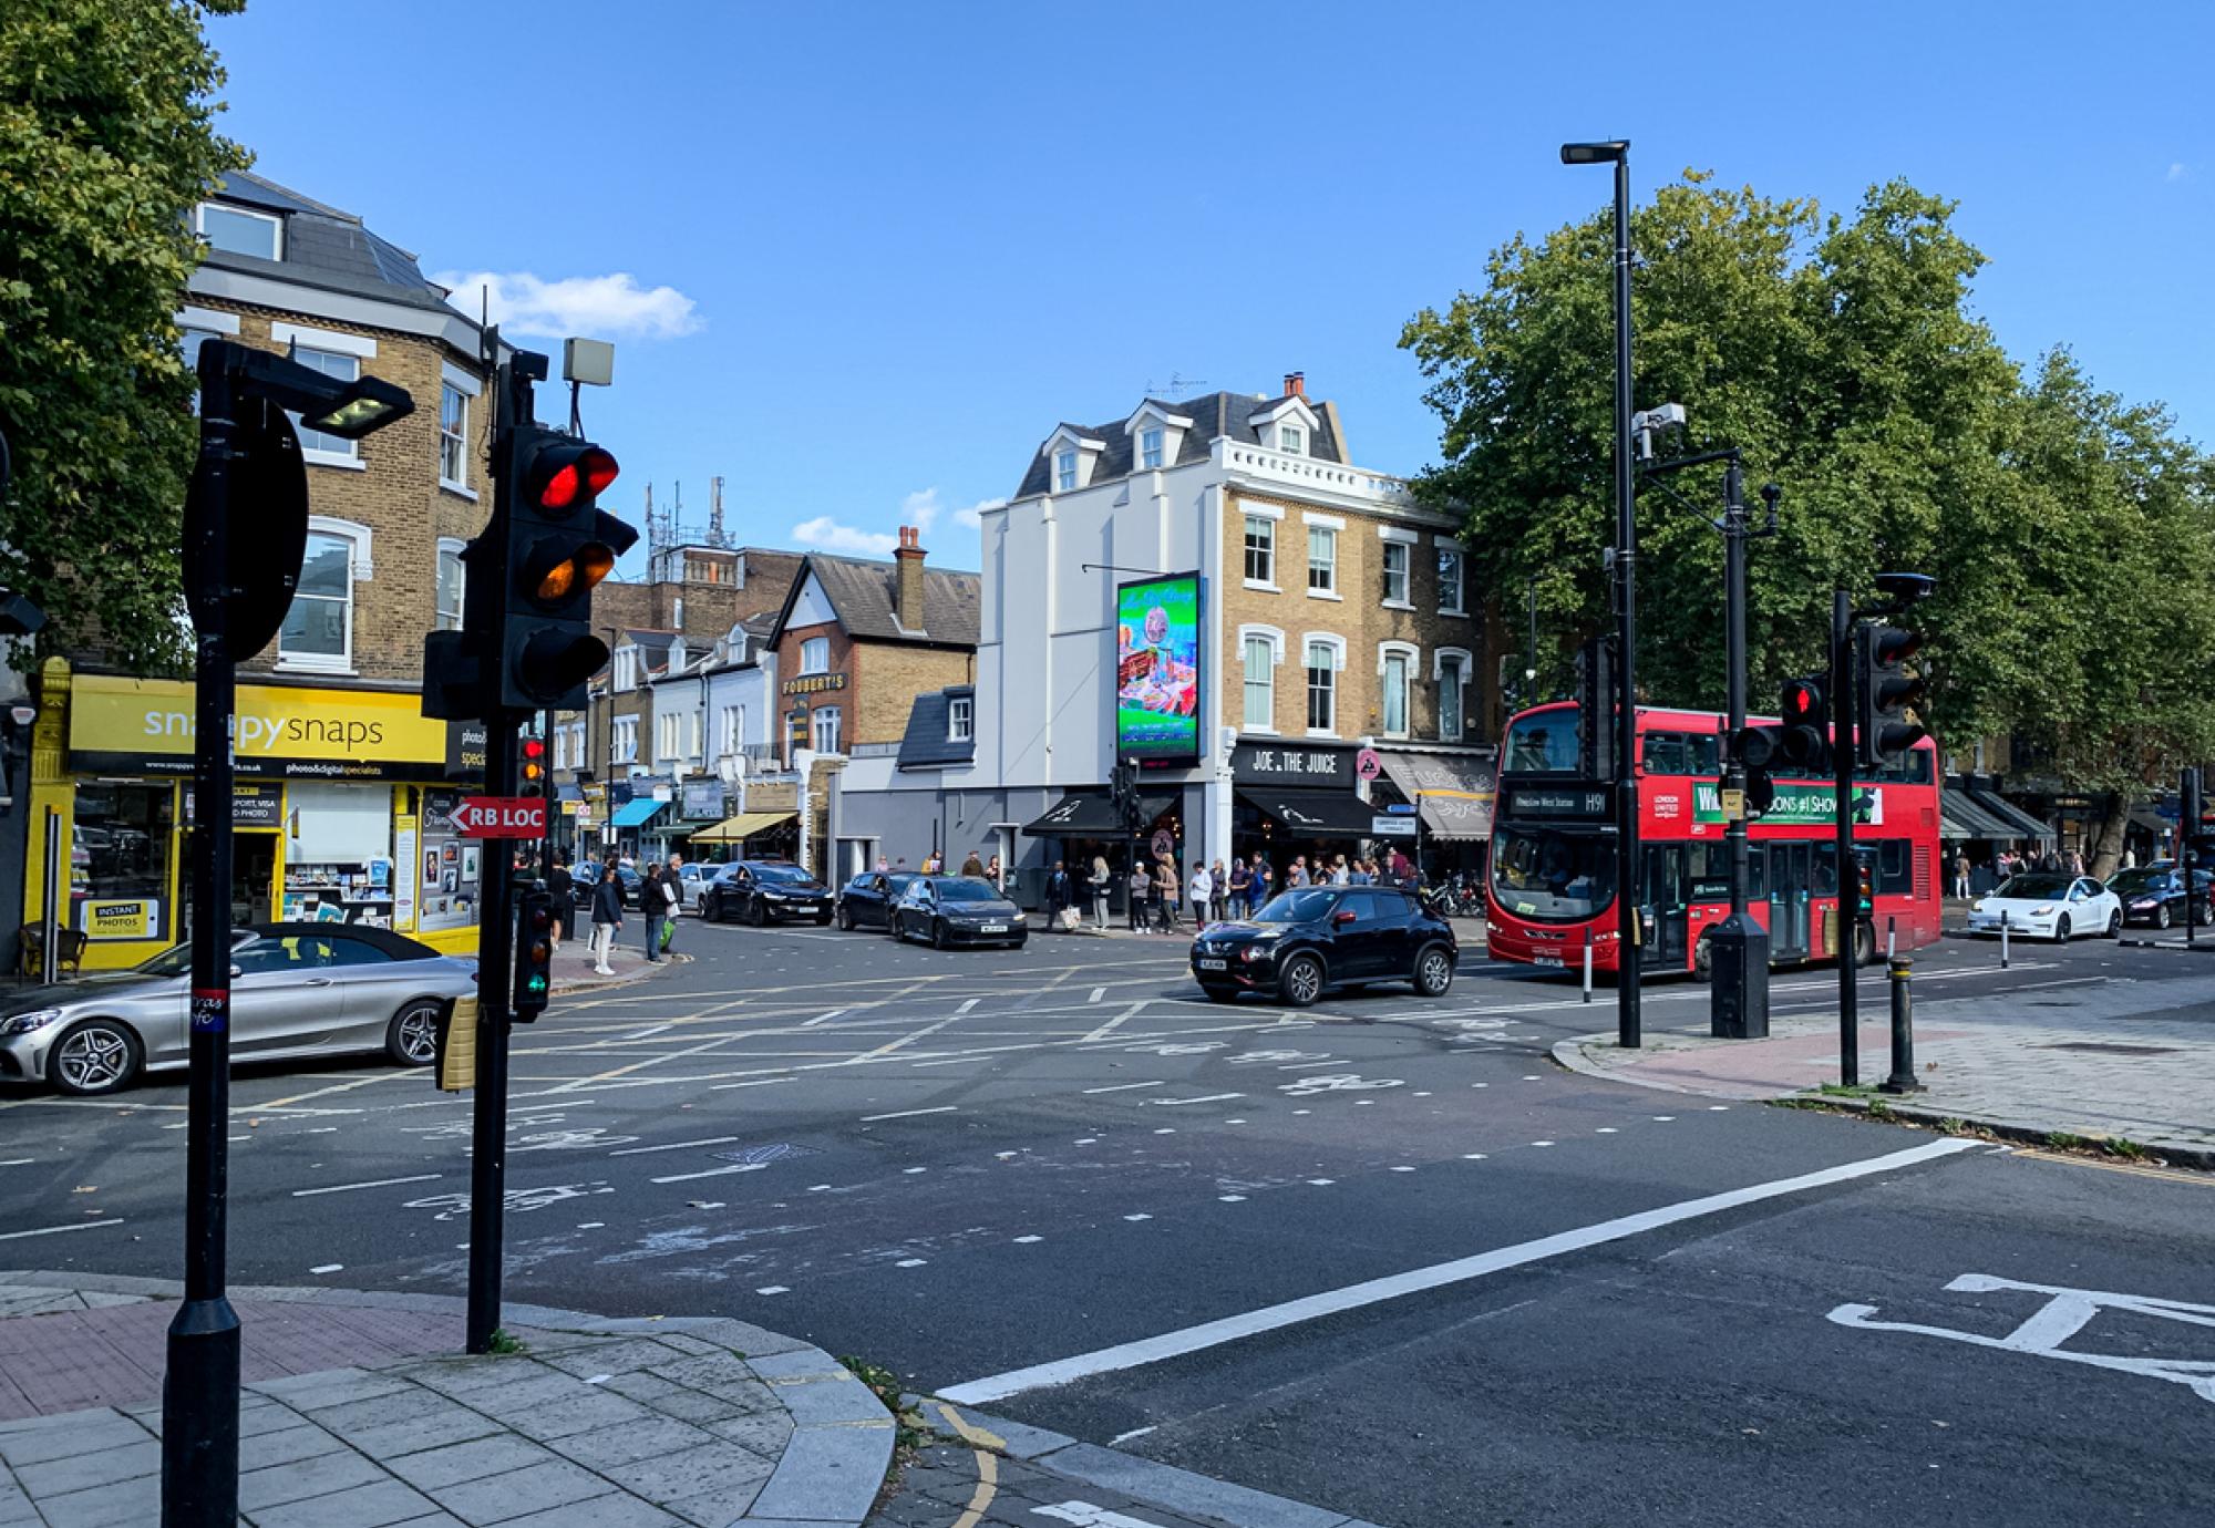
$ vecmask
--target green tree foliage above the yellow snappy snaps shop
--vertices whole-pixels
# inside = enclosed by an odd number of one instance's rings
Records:
[[[0,9],[0,430],[16,483],[0,574],[137,669],[182,662],[177,576],[193,381],[175,312],[188,215],[246,162],[213,126],[206,13],[244,0],[9,0]]]

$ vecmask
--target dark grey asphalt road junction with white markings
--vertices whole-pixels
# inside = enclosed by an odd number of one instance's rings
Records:
[[[740,1315],[1391,1528],[2215,1521],[2204,1178],[1566,1074],[1610,994],[1482,957],[1296,1014],[1205,1003],[1167,939],[678,948],[518,1030],[512,1298]],[[1918,999],[2202,966],[1947,941]],[[467,1098],[233,1092],[235,1282],[461,1289]],[[182,1109],[0,1094],[0,1264],[175,1276]]]

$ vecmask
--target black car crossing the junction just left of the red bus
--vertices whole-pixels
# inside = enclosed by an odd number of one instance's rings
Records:
[[[1327,988],[1411,981],[1424,997],[1453,985],[1453,926],[1398,886],[1302,886],[1254,917],[1209,923],[1192,941],[1192,974],[1218,1003],[1269,992],[1307,1008]]]

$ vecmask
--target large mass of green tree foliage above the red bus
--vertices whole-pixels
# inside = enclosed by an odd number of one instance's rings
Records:
[[[2067,352],[2025,381],[1967,310],[1985,257],[1951,215],[1905,182],[1825,217],[1688,171],[1632,210],[1635,396],[1683,403],[1686,447],[1739,445],[1750,485],[1785,489],[1779,536],[1750,558],[1756,711],[1821,662],[1832,587],[1927,571],[1934,731],[2016,733],[2075,784],[2144,795],[2215,753],[2215,686],[2184,660],[2215,653],[2215,472],[2164,412],[2093,390]],[[1400,343],[1444,421],[1446,461],[1418,492],[1464,518],[1482,587],[1519,593],[1535,574],[1562,649],[1604,629],[1608,213],[1517,235],[1482,292],[1415,314]],[[1712,478],[1670,487],[1719,503]],[[1641,689],[1721,709],[1721,538],[1652,485],[1639,538]],[[2164,620],[2118,620],[2153,596]]]

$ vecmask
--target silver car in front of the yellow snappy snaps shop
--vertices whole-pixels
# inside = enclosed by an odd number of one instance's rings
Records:
[[[190,946],[135,970],[97,972],[0,1001],[0,1078],[89,1096],[188,1061]],[[381,1050],[408,1067],[439,1059],[439,1023],[476,994],[476,961],[385,928],[255,923],[230,943],[233,1061]]]

